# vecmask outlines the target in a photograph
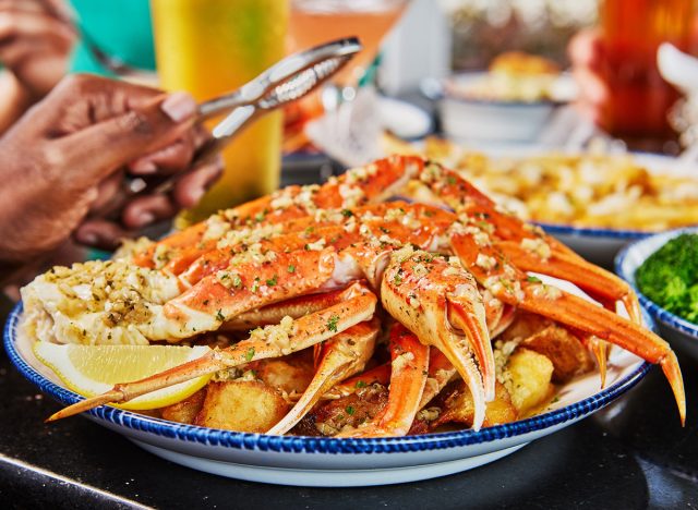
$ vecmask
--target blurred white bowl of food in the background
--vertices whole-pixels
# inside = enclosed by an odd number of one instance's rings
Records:
[[[482,80],[486,73],[469,72],[450,78],[455,88],[467,88],[469,83]],[[561,88],[571,77],[561,75]],[[569,87],[568,87],[569,88]],[[443,88],[438,112],[444,133],[458,142],[533,142],[550,120],[555,109],[564,105],[569,95],[559,100],[533,102],[470,99],[450,94]]]

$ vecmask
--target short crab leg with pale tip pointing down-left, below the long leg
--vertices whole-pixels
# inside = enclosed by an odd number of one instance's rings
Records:
[[[348,376],[361,372],[373,355],[381,325],[376,319],[361,323],[323,344],[317,372],[293,409],[267,434],[286,434],[301,421],[325,392]],[[318,344],[315,344],[317,347]]]

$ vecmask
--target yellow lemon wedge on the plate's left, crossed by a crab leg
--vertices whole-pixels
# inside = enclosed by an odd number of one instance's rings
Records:
[[[34,342],[34,354],[51,368],[68,388],[95,397],[117,382],[131,382],[203,356],[207,347],[179,345],[60,345]],[[117,408],[146,410],[177,403],[203,388],[210,375],[142,394]]]

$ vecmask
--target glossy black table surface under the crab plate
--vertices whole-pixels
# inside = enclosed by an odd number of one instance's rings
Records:
[[[9,303],[0,306],[0,320]],[[605,410],[492,464],[371,488],[281,487],[224,478],[152,456],[59,409],[0,354],[3,508],[678,508],[698,507],[698,361],[682,353],[682,428],[657,368]]]

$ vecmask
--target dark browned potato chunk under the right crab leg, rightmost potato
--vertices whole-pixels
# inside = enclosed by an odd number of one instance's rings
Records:
[[[581,342],[557,325],[551,325],[528,337],[520,345],[543,354],[553,362],[553,382],[567,382],[594,366],[589,351]]]

